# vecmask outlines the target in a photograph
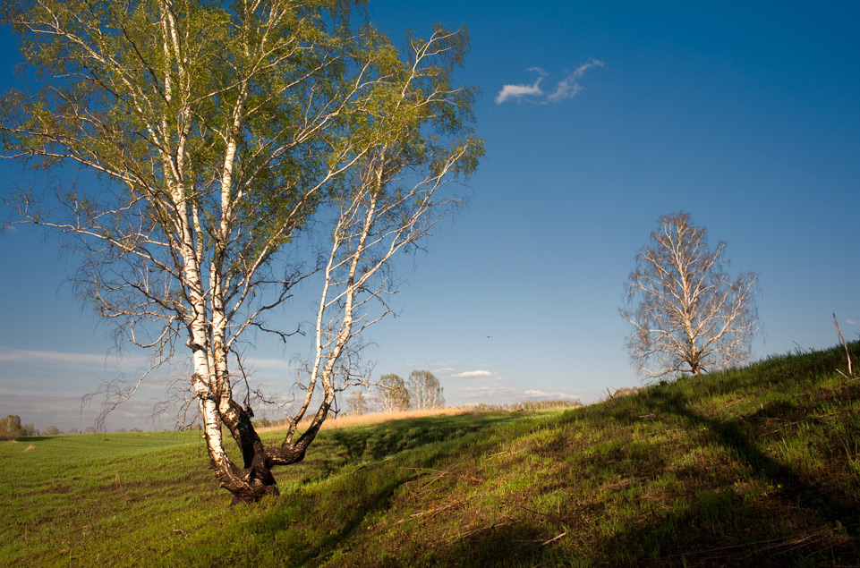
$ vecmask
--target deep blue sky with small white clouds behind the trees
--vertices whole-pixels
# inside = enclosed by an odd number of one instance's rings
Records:
[[[460,189],[468,205],[398,267],[399,316],[368,334],[375,376],[433,370],[452,404],[588,403],[639,384],[617,309],[636,250],[678,210],[728,243],[733,271],[758,272],[756,358],[836,343],[834,311],[860,333],[855,3],[386,0],[370,14],[395,39],[435,21],[469,28],[457,79],[481,89],[487,144]],[[0,33],[6,86],[15,60]],[[38,181],[17,165],[0,175],[0,191]],[[56,245],[0,234],[0,415],[86,428],[81,394],[133,377],[144,354],[106,355],[109,330],[63,284],[75,259]],[[260,339],[257,380],[288,386],[304,349]],[[170,427],[144,420],[168,379],[108,428]]]

